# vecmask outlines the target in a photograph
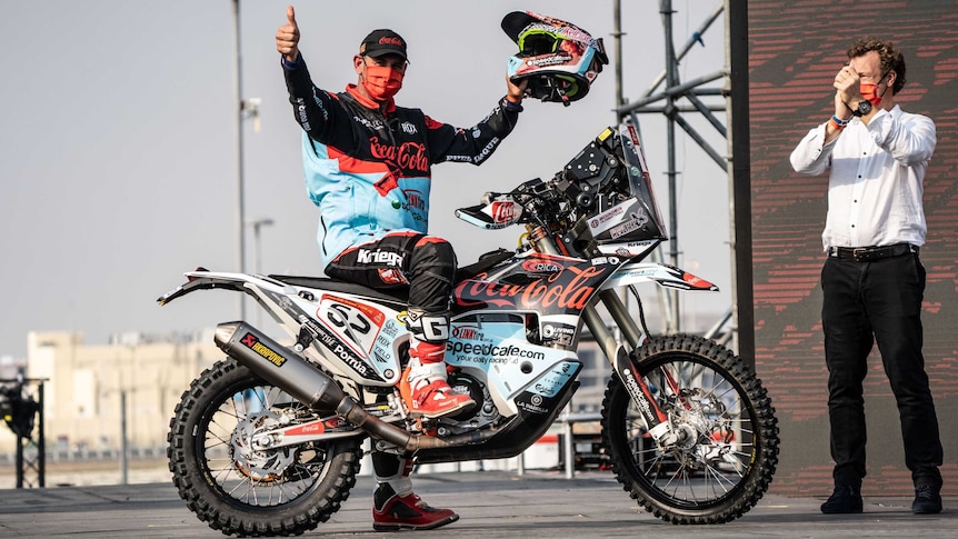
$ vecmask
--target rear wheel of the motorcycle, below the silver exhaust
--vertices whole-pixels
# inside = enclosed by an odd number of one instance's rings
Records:
[[[233,360],[183,393],[170,421],[170,471],[187,507],[240,537],[298,536],[336,512],[362,457],[361,438],[269,448],[262,432],[318,416]]]

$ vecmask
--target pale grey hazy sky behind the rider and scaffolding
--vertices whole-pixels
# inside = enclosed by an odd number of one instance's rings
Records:
[[[676,48],[720,3],[675,0]],[[240,270],[240,170],[246,219],[272,220],[259,241],[247,227],[247,271],[319,275],[318,216],[273,40],[288,4],[240,0],[238,54],[231,0],[0,2],[0,357],[26,357],[30,331],[79,331],[98,345],[112,335],[193,332],[239,318],[234,292],[194,293],[162,308],[156,299],[198,266]],[[397,102],[463,128],[505,94],[516,46],[499,24],[510,11],[573,22],[615,56],[612,0],[292,4],[318,87],[341,91],[356,82],[359,42],[391,28],[409,43]],[[621,21],[629,101],[665,67],[659,2],[623,1]],[[702,38],[681,64],[682,80],[724,64],[722,19]],[[430,231],[452,242],[461,264],[513,247],[521,230],[483,231],[456,219],[455,209],[486,191],[551,178],[613,124],[613,63],[570,107],[527,100],[516,130],[483,166],[433,168]],[[240,123],[238,86],[242,99],[259,99],[258,121]],[[660,114],[639,118],[668,220],[666,123]],[[724,139],[692,123],[725,153]],[[721,289],[683,295],[682,311],[690,325],[708,327],[731,302],[728,179],[689,139],[680,134],[676,148],[679,266]],[[253,312],[250,306],[247,318]]]

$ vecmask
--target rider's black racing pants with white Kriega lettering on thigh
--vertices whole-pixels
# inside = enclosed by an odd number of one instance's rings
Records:
[[[352,247],[326,268],[336,279],[369,288],[409,288],[409,308],[448,316],[456,277],[456,252],[448,241],[412,232],[393,232]]]

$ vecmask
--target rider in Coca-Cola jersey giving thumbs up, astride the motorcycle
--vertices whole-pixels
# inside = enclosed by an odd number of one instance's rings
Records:
[[[313,86],[299,38],[290,6],[276,46],[302,127],[306,184],[320,210],[317,240],[326,273],[370,288],[408,287],[411,339],[403,398],[415,416],[426,418],[471,408],[475,401],[446,381],[457,262],[449,242],[427,236],[430,171],[443,161],[485,162],[516,126],[526,84],[507,77],[508,93],[492,112],[460,129],[396,106],[409,62],[406,40],[392,30],[373,30],[362,40],[352,59],[358,81],[339,93]],[[412,492],[410,459],[376,452],[372,465],[376,530],[428,530],[458,520]]]

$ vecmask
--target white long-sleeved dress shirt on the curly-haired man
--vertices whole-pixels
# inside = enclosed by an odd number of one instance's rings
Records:
[[[896,104],[876,112],[868,126],[852,118],[825,144],[826,123],[809,131],[790,158],[796,172],[818,176],[831,168],[824,248],[925,244],[922,181],[937,143],[935,122]]]

